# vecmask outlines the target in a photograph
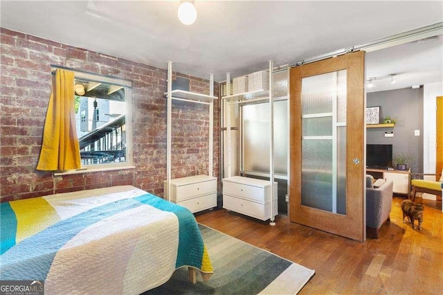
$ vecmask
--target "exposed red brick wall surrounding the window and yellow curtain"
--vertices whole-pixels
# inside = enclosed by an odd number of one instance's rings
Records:
[[[15,32],[1,34],[1,202],[53,193],[130,184],[163,196],[166,178],[167,71],[83,48]],[[135,169],[85,172],[54,177],[36,170],[46,109],[51,94],[51,64],[133,82]],[[167,66],[165,61],[165,67]],[[190,91],[209,93],[209,81],[181,73]],[[218,96],[218,84],[214,86]],[[219,102],[214,106],[214,167],[219,178]],[[208,173],[208,106],[174,102],[172,178]]]

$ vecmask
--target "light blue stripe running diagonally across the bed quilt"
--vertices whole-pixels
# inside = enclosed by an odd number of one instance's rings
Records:
[[[142,204],[149,204],[154,207],[157,206],[156,204],[159,204],[160,207],[168,208],[166,211],[175,213],[179,218],[186,215],[182,212],[182,207],[168,202],[164,204],[163,202],[166,201],[148,194],[137,197],[136,199],[122,199],[110,204],[105,204],[67,218],[66,220],[61,220],[53,226],[44,229],[44,231],[22,240],[19,244],[16,244],[3,253],[0,256],[0,280],[45,280],[57,251],[59,251],[66,242],[69,242],[75,235],[88,226],[91,226],[91,224],[115,215],[116,213],[136,208]],[[174,206],[178,208],[174,208]],[[6,212],[8,211],[6,210]],[[194,220],[194,216],[192,214],[190,215],[192,216],[192,220]],[[15,216],[13,217],[15,218]],[[186,219],[189,220],[190,218]],[[188,222],[183,221],[183,224],[188,224]],[[182,248],[186,249],[186,247]],[[181,256],[181,254],[179,254],[179,256]],[[185,259],[185,261],[188,260]],[[201,256],[197,261],[201,261]],[[195,265],[195,262],[192,265]]]

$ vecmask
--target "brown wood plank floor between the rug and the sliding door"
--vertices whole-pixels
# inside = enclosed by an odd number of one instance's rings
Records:
[[[197,222],[266,249],[316,274],[300,294],[443,294],[442,203],[425,206],[422,231],[402,222],[393,197],[391,222],[379,240],[356,242],[276,218],[276,226],[224,209],[196,214]]]

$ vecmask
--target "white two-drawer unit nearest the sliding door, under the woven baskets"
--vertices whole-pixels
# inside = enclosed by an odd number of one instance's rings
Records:
[[[241,176],[225,178],[223,179],[223,208],[260,220],[269,220],[278,214],[277,185],[275,181],[272,206],[269,181]]]

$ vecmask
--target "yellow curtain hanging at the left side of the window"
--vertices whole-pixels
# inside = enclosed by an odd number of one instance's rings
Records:
[[[38,170],[81,168],[74,103],[74,73],[57,69],[44,123]]]

